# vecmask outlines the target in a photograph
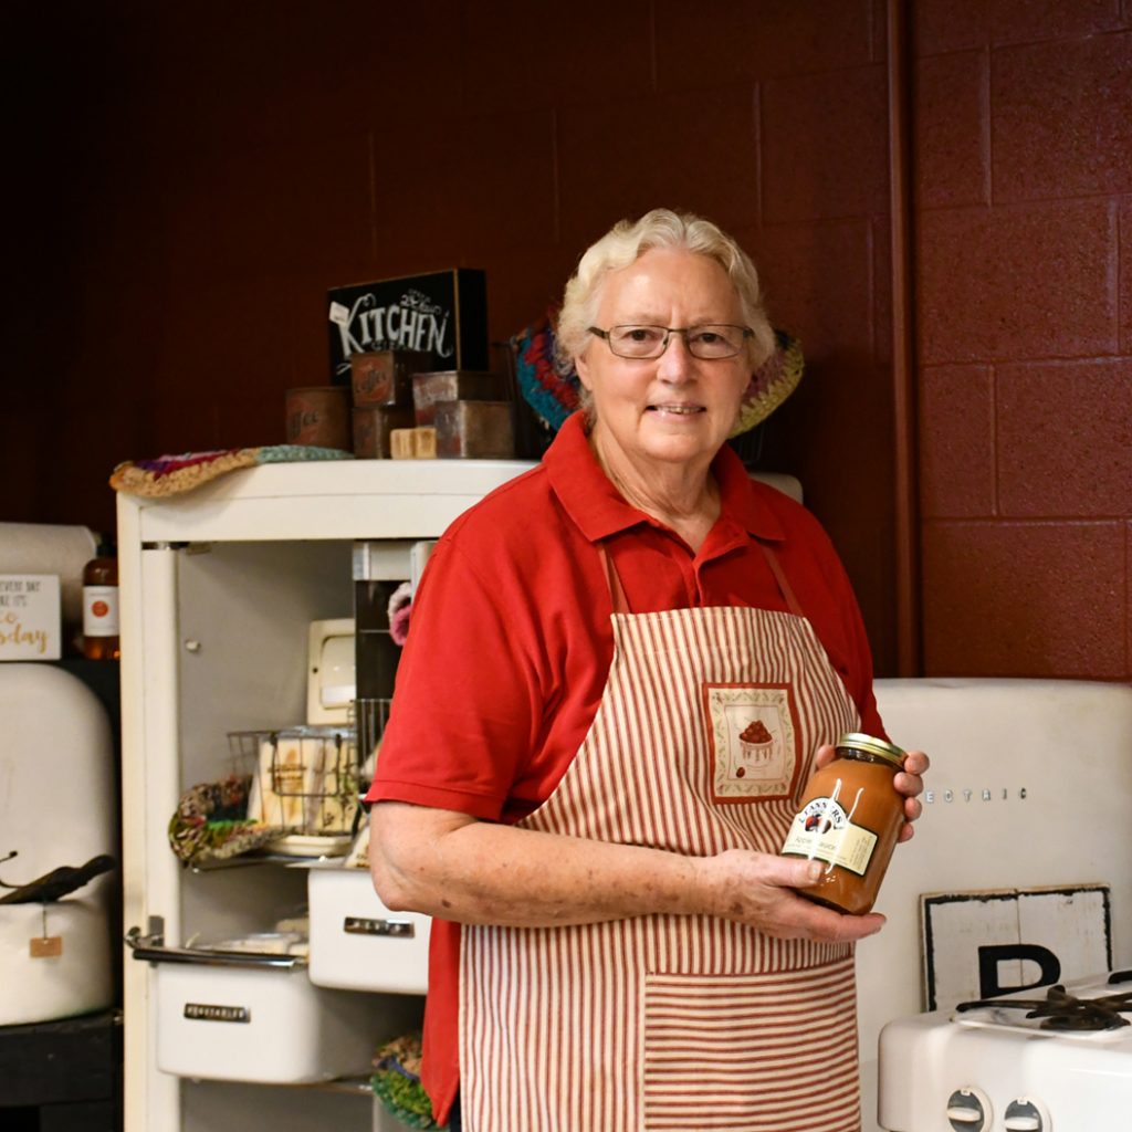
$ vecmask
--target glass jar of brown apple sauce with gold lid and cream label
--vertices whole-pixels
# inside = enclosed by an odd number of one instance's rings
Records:
[[[876,902],[904,821],[904,799],[892,780],[906,753],[856,731],[842,735],[837,751],[807,783],[782,856],[825,865],[821,880],[798,890],[801,895],[861,916]]]

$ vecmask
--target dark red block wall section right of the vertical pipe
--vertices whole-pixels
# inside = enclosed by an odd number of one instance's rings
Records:
[[[917,9],[926,669],[1129,679],[1132,7]]]

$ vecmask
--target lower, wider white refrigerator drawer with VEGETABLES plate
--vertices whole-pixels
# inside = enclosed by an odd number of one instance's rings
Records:
[[[305,967],[158,963],[157,1067],[301,1084],[368,1074],[375,1048],[419,1028],[415,1000],[315,986]]]

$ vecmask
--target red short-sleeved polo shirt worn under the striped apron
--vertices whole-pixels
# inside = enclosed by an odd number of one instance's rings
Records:
[[[863,730],[883,736],[860,612],[824,531],[804,507],[752,481],[730,448],[712,472],[721,512],[693,554],[618,495],[575,414],[537,469],[457,518],[413,602],[369,799],[515,822],[549,797],[597,713],[612,659],[599,541],[633,612],[784,610],[755,539],[769,542]],[[458,1087],[458,925],[435,921],[424,1087],[441,1123]]]

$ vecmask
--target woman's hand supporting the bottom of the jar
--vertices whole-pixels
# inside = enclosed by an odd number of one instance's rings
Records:
[[[746,849],[728,849],[700,858],[705,892],[714,899],[705,909],[780,940],[849,943],[874,935],[884,917],[847,916],[798,895],[821,876],[817,861],[775,857]]]

